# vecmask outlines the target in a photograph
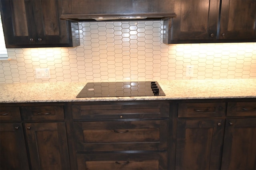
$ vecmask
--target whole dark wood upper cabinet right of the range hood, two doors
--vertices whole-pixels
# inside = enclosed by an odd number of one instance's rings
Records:
[[[164,43],[256,42],[255,0],[175,0]]]

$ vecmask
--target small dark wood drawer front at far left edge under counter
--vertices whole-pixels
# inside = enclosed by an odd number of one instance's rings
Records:
[[[19,107],[1,107],[0,121],[20,121],[20,108]]]

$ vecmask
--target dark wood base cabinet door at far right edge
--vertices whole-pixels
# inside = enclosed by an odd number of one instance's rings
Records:
[[[256,169],[256,118],[226,120],[221,169]]]

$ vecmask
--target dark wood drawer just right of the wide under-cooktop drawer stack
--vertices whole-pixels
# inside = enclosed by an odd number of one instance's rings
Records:
[[[225,103],[179,103],[178,117],[220,117],[225,115]]]

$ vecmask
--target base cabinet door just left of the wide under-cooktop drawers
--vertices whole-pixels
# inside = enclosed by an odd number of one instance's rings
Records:
[[[32,169],[70,169],[64,122],[25,123],[25,127]]]

